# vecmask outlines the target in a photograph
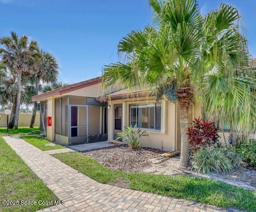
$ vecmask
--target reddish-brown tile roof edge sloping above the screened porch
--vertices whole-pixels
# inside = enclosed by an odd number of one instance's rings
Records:
[[[77,89],[80,89],[80,88],[84,88],[84,87],[87,87],[87,86],[98,84],[99,82],[100,82],[100,77],[92,78],[90,80],[85,80],[85,81],[82,81],[82,82],[77,82],[77,83],[74,83],[74,84],[71,84],[71,85],[67,85],[67,86],[64,86],[64,87],[61,87],[61,88],[57,88],[55,90],[48,91],[46,93],[39,94],[37,96],[33,96],[32,101],[38,101],[38,100],[48,98],[48,97],[51,97],[51,96],[65,94],[65,93],[68,93],[68,92],[73,91],[73,90],[77,90]]]

